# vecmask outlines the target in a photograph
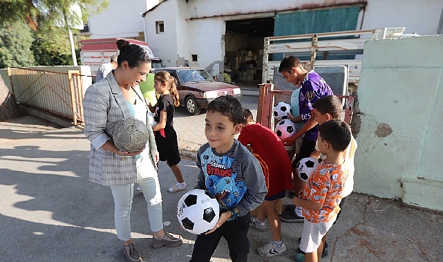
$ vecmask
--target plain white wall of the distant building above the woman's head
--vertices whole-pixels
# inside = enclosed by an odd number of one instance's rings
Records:
[[[158,0],[109,0],[106,10],[88,19],[91,39],[138,37],[140,32],[144,32],[144,19],[140,13],[158,3]]]

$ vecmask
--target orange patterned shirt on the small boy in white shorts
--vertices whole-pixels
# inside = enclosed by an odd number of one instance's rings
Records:
[[[305,184],[302,199],[321,203],[321,210],[303,208],[303,216],[312,223],[328,222],[339,212],[347,174],[341,165],[321,162]]]

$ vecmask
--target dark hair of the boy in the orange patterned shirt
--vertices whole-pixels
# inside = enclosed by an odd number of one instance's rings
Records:
[[[328,141],[333,150],[343,152],[350,143],[350,127],[344,121],[332,119],[319,125],[319,137]]]

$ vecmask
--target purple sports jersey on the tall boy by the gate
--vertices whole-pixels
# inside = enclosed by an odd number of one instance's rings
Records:
[[[326,81],[322,79],[317,72],[310,70],[301,83],[299,95],[299,112],[303,123],[306,123],[312,117],[311,110],[314,109],[312,108],[312,104],[317,101],[317,99],[331,94],[332,90]],[[316,141],[318,134],[319,130],[316,125],[308,132],[305,132],[305,139]]]

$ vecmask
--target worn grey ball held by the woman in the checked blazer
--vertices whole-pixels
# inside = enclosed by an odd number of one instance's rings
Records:
[[[143,121],[128,117],[115,125],[113,140],[115,146],[123,151],[137,152],[148,142],[149,132]]]

